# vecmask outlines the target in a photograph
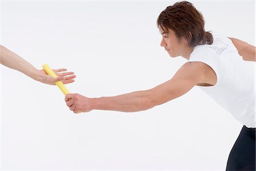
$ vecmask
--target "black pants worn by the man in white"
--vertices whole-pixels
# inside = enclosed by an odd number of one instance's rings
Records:
[[[255,128],[243,126],[229,154],[226,170],[255,170]]]

